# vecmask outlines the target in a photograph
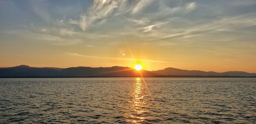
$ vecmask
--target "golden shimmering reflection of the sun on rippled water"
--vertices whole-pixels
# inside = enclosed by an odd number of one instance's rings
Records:
[[[143,83],[144,82],[144,83]],[[143,100],[145,97],[145,81],[143,78],[136,78],[133,85],[132,100],[128,101],[131,104],[131,113],[125,114],[125,121],[129,123],[140,124],[145,120],[146,110],[143,109],[146,101]]]

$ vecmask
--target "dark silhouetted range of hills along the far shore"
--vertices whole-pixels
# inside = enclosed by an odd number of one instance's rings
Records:
[[[165,68],[163,70],[140,70],[129,67],[71,67],[71,68],[35,68],[28,65],[20,65],[9,68],[0,68],[0,77],[219,77],[219,76],[256,76],[256,73],[243,71],[227,71],[217,73],[213,71],[182,70],[177,68]]]

